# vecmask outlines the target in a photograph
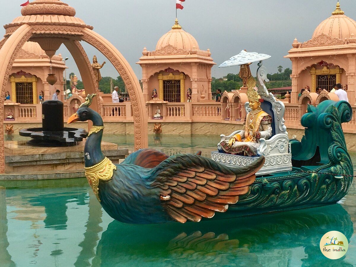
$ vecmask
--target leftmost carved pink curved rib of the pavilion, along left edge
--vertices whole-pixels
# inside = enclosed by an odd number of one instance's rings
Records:
[[[32,27],[29,25],[22,25],[12,33],[7,39],[2,39],[0,42],[0,58],[3,63],[7,63],[0,68],[0,117],[4,117],[4,97],[6,85],[9,80],[10,71],[14,64],[17,52],[22,48],[25,42],[32,36]],[[4,124],[0,124],[0,131],[4,132]],[[4,152],[4,138],[0,138],[0,173],[5,172],[5,152]]]

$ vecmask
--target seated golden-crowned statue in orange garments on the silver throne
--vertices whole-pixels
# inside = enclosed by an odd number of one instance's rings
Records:
[[[252,81],[253,79],[253,81]],[[251,111],[246,115],[242,131],[232,136],[230,140],[221,141],[221,148],[229,154],[242,156],[257,155],[260,138],[268,139],[272,136],[272,117],[261,109],[261,102],[255,87],[255,79],[248,81],[247,97]]]

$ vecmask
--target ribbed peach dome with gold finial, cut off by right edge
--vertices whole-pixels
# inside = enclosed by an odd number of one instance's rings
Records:
[[[340,9],[340,4],[337,2],[336,9],[332,15],[321,22],[316,27],[312,38],[321,34],[329,35],[344,40],[350,38],[351,34],[356,34],[356,21],[347,17],[345,12]]]

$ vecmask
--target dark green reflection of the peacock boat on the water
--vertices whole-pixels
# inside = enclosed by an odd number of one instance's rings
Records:
[[[159,264],[164,259],[165,265],[314,265],[327,262],[319,242],[330,230],[343,232],[349,240],[352,236],[350,215],[339,204],[199,224],[137,226],[112,221],[93,264]]]

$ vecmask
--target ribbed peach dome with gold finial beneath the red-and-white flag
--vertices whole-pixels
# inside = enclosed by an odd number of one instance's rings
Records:
[[[171,45],[180,49],[192,51],[193,47],[199,50],[197,40],[188,32],[182,29],[178,20],[172,26],[172,30],[163,35],[157,42],[156,50],[161,49],[167,45]]]

